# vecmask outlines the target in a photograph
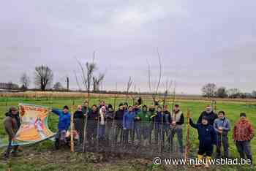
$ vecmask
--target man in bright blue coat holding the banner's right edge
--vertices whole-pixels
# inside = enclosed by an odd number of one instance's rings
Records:
[[[70,126],[70,113],[69,107],[64,106],[63,110],[53,109],[52,113],[59,116],[58,132],[56,134],[55,148],[58,150],[60,145],[66,143],[66,132]]]

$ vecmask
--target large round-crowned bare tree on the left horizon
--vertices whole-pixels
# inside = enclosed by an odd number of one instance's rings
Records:
[[[36,66],[34,83],[41,91],[45,91],[53,82],[53,71],[45,65]]]

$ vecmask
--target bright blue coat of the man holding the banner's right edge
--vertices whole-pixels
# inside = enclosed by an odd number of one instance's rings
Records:
[[[63,113],[62,110],[53,109],[52,113],[59,115],[58,129],[59,132],[69,129],[70,126],[70,113]]]

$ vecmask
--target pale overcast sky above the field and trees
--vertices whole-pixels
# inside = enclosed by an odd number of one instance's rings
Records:
[[[157,81],[157,47],[163,78],[178,93],[200,94],[205,83],[256,89],[256,1],[8,0],[0,7],[0,82],[18,82],[34,67],[69,76],[77,88],[75,58],[96,51],[105,89],[123,90],[129,76],[140,91]],[[34,87],[34,85],[31,85]],[[162,85],[161,88],[164,88]]]

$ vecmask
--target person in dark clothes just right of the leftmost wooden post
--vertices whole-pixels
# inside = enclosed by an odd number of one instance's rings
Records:
[[[74,126],[79,135],[79,143],[83,142],[83,126],[85,114],[83,113],[82,108],[83,107],[81,105],[78,105],[78,109],[74,113]]]

